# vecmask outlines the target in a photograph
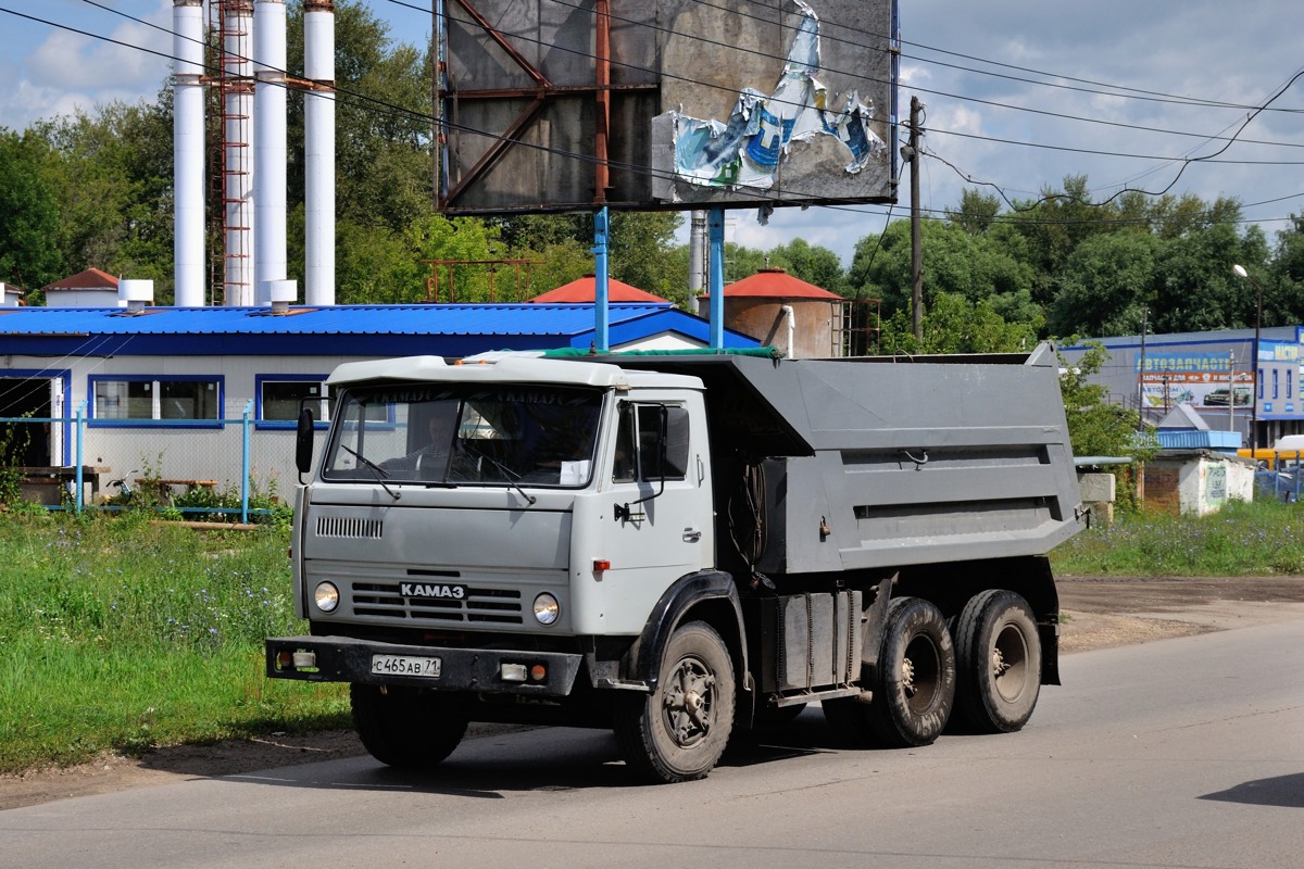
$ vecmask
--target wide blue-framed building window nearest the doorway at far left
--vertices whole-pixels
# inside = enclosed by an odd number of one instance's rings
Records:
[[[90,418],[95,422],[190,423],[222,418],[219,377],[91,377],[90,393]]]

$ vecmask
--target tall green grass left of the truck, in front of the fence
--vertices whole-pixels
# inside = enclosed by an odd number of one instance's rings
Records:
[[[303,633],[284,532],[0,519],[0,773],[348,726],[343,685],[263,676]]]

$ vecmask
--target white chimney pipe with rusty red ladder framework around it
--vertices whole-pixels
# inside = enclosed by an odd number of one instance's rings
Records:
[[[226,21],[226,304],[253,305],[253,7],[232,3]]]

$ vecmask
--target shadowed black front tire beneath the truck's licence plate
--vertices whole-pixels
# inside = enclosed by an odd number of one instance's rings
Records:
[[[429,770],[452,753],[467,732],[467,719],[438,694],[416,688],[349,685],[353,726],[363,747],[381,763]]]

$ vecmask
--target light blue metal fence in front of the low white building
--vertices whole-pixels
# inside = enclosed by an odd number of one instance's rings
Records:
[[[10,499],[78,513],[145,507],[249,522],[284,512],[293,425],[256,420],[252,401],[227,417],[123,425],[89,420],[85,403],[72,417],[0,417],[0,481]]]

